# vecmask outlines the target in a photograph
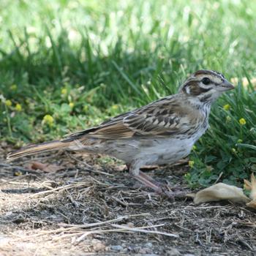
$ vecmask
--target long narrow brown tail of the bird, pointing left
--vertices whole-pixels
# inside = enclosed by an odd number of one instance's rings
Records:
[[[10,152],[10,154],[7,155],[7,159],[15,159],[19,157],[25,157],[29,156],[31,154],[46,152],[46,151],[52,151],[52,150],[58,150],[60,148],[68,148],[72,142],[69,140],[52,140],[45,143],[40,144],[32,144],[29,146],[25,146],[23,148],[20,148],[16,151]]]

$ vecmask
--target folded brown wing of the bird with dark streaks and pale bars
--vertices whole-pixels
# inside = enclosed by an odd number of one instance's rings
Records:
[[[173,135],[184,121],[171,98],[160,99],[143,108],[110,118],[99,127],[69,135],[69,138],[121,139],[135,136]],[[174,108],[173,108],[173,107]]]

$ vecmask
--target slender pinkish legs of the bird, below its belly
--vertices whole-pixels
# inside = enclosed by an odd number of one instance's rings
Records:
[[[129,173],[146,187],[154,189],[154,191],[157,193],[162,193],[162,188],[159,186],[159,183],[155,181],[154,178],[151,178],[140,171],[139,167],[129,165]]]

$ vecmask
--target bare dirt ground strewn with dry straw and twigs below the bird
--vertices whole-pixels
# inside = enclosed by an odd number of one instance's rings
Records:
[[[256,255],[256,215],[249,208],[155,195],[104,158],[62,153],[7,163],[5,151],[0,255]],[[31,170],[32,161],[51,166]],[[182,187],[186,170],[147,173]]]

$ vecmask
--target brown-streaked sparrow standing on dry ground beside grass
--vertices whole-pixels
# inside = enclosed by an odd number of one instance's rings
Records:
[[[64,136],[61,140],[32,144],[12,151],[15,159],[45,151],[83,150],[124,161],[129,173],[144,186],[164,193],[162,184],[143,173],[145,165],[173,164],[187,157],[208,129],[211,105],[234,89],[222,73],[197,70],[172,94],[141,108],[114,116],[97,127]]]

